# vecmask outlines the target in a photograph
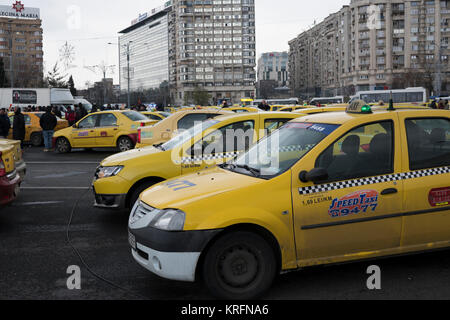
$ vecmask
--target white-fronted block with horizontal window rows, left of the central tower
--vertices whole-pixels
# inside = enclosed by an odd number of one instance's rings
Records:
[[[169,13],[171,3],[139,15],[120,31],[119,73],[121,90],[159,88],[169,80]],[[128,53],[129,68],[128,73]]]

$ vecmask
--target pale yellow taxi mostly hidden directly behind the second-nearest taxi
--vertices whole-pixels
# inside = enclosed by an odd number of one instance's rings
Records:
[[[196,122],[230,113],[231,111],[219,109],[178,111],[152,127],[141,128],[138,132],[136,148],[138,149],[167,142],[175,136],[179,130],[188,130],[193,127]]]

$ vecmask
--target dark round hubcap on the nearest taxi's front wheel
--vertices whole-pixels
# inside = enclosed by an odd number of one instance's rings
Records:
[[[250,285],[256,279],[258,272],[258,258],[251,248],[235,246],[220,256],[220,277],[231,287],[242,288]]]

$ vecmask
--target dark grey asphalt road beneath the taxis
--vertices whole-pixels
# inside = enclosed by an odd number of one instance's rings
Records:
[[[20,197],[0,210],[0,299],[211,299],[200,284],[160,279],[137,265],[127,241],[128,213],[93,208],[91,180],[111,153],[25,149]],[[70,238],[86,265],[66,239],[73,209]],[[382,289],[370,291],[366,271],[374,264]],[[67,289],[72,265],[81,268],[81,290]],[[265,299],[450,299],[450,251],[284,274]]]

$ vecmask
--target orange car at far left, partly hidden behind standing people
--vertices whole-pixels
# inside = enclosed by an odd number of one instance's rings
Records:
[[[35,147],[40,147],[44,143],[44,137],[42,136],[42,128],[40,125],[41,116],[44,112],[22,112],[25,118],[25,143],[31,143]],[[14,123],[14,113],[10,113],[9,120],[11,126]],[[55,131],[62,130],[69,126],[69,122],[56,117],[58,122],[55,127]],[[12,128],[9,132],[9,139],[13,138]]]

